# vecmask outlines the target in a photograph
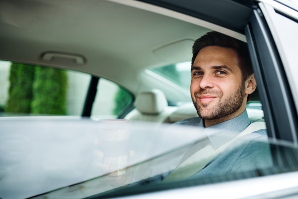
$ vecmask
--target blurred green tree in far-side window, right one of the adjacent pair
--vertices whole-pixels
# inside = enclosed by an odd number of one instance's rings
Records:
[[[35,67],[32,91],[31,113],[66,114],[66,71]]]

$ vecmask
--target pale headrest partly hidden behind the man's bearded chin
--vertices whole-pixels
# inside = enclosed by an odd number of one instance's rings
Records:
[[[192,102],[189,102],[179,106],[179,108],[169,116],[169,119],[171,122],[176,122],[197,116],[198,113],[194,104]]]

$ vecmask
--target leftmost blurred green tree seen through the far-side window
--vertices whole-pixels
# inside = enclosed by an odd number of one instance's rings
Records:
[[[5,112],[30,112],[34,72],[33,66],[18,63],[11,64],[9,96]]]

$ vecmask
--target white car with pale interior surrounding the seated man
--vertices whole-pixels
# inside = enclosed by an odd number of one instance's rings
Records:
[[[298,197],[294,0],[0,0],[0,29],[1,199]],[[248,44],[258,89],[247,111],[251,121],[266,122],[263,144],[272,165],[136,188],[134,183],[174,170],[200,137],[198,127],[170,124],[197,116],[189,92],[191,48],[212,30]],[[66,71],[64,115],[50,114],[48,106],[39,114],[7,111],[19,105],[7,108],[12,65],[21,64]],[[31,88],[46,85],[47,75],[33,78]],[[100,133],[114,127],[99,121],[117,118],[131,121],[130,141],[102,144]],[[111,170],[98,168],[103,145],[110,157],[126,157],[120,159],[133,168],[130,183],[111,186],[106,180]],[[134,156],[129,163],[128,154]]]

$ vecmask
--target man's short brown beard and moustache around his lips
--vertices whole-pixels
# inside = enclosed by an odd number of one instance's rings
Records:
[[[219,119],[224,116],[230,115],[236,112],[242,105],[244,99],[244,91],[245,91],[245,82],[243,82],[240,87],[232,93],[232,95],[228,96],[226,99],[223,99],[223,92],[222,91],[214,91],[213,89],[206,89],[206,90],[199,90],[195,92],[195,97],[191,97],[199,117],[203,119]],[[207,107],[209,103],[200,103],[199,96],[206,95],[206,94],[213,94],[217,96],[220,100],[214,106],[209,108]]]

